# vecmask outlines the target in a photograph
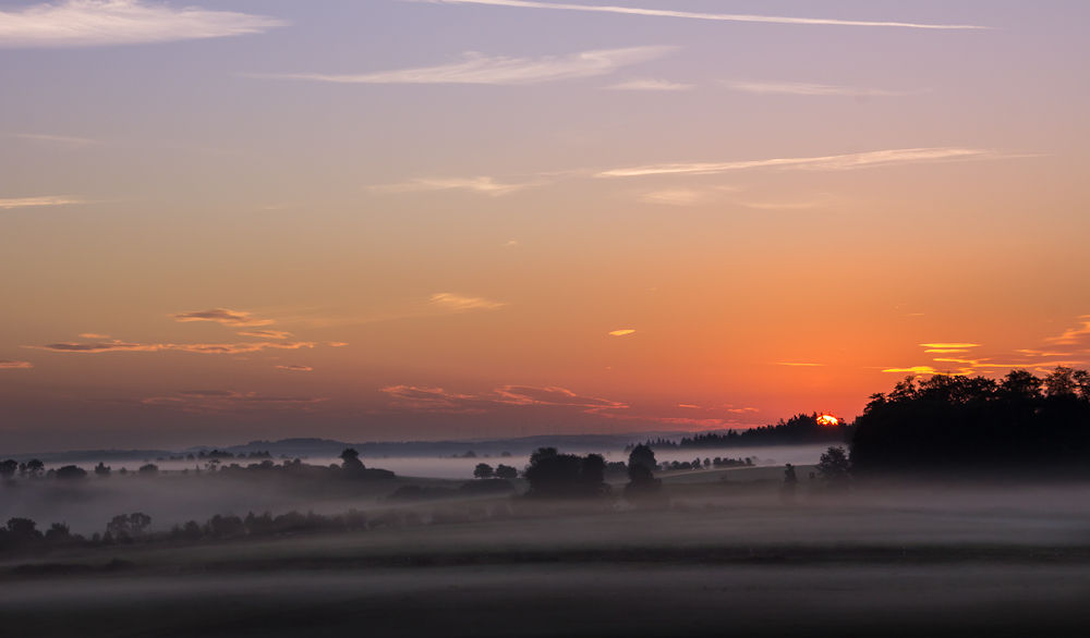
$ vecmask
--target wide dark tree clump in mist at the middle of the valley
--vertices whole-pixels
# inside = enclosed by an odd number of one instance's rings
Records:
[[[530,481],[526,496],[540,499],[584,499],[609,491],[601,454],[560,454],[556,447],[538,447],[530,455],[524,476]]]

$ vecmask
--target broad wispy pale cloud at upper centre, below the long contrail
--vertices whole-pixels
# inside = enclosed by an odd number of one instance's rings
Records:
[[[311,79],[343,84],[537,84],[606,75],[617,69],[646,62],[671,51],[674,47],[630,47],[601,49],[569,56],[544,58],[489,58],[465,53],[461,62],[439,66],[399,69],[358,75],[322,73],[250,74],[249,77]]]

